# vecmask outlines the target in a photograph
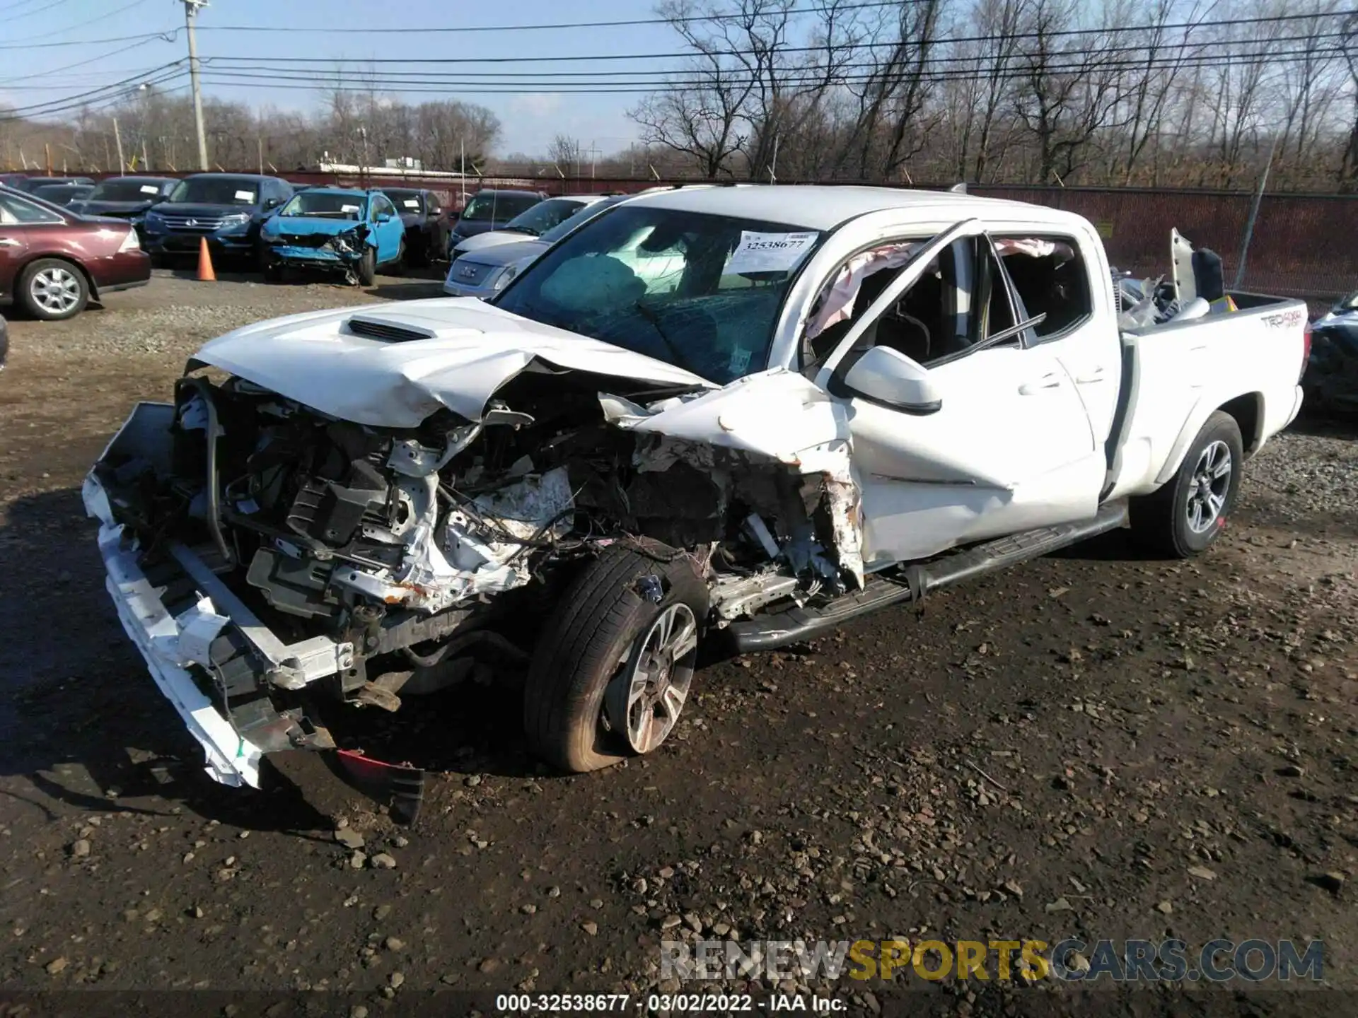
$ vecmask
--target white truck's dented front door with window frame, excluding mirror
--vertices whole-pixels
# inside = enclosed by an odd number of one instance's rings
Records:
[[[820,368],[847,403],[869,570],[1097,512],[1105,464],[1089,415],[1013,307],[982,224],[961,223],[915,252]],[[938,402],[900,409],[847,388],[873,345],[922,366]]]

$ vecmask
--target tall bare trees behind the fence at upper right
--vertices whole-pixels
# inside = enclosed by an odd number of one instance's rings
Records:
[[[631,110],[708,178],[1358,185],[1339,0],[667,0],[691,53]],[[809,24],[808,24],[809,20]]]

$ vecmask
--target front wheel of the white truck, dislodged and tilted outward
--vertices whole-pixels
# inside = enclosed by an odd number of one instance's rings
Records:
[[[657,749],[687,699],[708,612],[687,557],[608,548],[558,605],[528,668],[528,748],[576,774]]]

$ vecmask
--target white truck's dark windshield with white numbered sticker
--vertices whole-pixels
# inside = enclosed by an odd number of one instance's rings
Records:
[[[496,300],[727,384],[763,371],[816,231],[625,205],[550,248]]]

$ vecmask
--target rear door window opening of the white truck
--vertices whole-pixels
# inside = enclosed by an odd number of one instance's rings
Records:
[[[1023,305],[1020,318],[1047,315],[1032,330],[1038,342],[1063,335],[1093,314],[1089,273],[1073,238],[997,238],[995,248]]]

